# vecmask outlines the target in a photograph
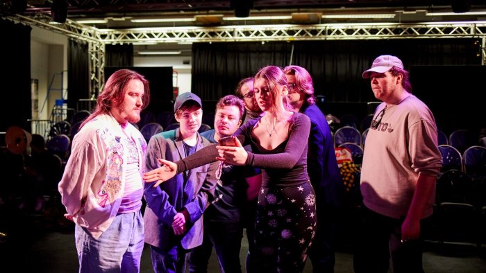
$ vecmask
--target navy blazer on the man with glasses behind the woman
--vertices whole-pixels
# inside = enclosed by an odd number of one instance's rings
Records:
[[[315,104],[303,105],[300,112],[310,118],[307,165],[316,198],[322,200],[324,197],[324,202],[318,204],[341,206],[346,190],[337,166],[333,136],[326,117]]]

